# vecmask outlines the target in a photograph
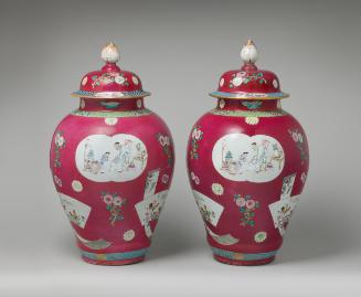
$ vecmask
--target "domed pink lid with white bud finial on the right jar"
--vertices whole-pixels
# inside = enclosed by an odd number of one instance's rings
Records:
[[[255,65],[257,56],[255,44],[248,40],[241,51],[243,61],[241,70],[225,72],[220,79],[217,91],[210,95],[216,98],[257,100],[288,97],[288,94],[280,91],[276,74],[257,68]]]

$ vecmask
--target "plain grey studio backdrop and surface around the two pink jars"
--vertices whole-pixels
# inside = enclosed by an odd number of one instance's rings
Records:
[[[0,6],[0,296],[361,295],[358,1]],[[232,267],[214,262],[205,243],[185,144],[215,104],[208,92],[240,66],[248,36],[258,66],[276,72],[291,94],[283,105],[308,132],[311,162],[277,261]],[[47,166],[52,132],[78,104],[70,93],[100,67],[108,41],[152,92],[146,104],[168,123],[177,149],[149,256],[125,267],[79,259]]]

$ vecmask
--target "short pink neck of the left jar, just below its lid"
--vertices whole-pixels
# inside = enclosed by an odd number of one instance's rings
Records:
[[[84,112],[129,112],[144,109],[144,98],[91,99],[81,98],[79,110]]]

